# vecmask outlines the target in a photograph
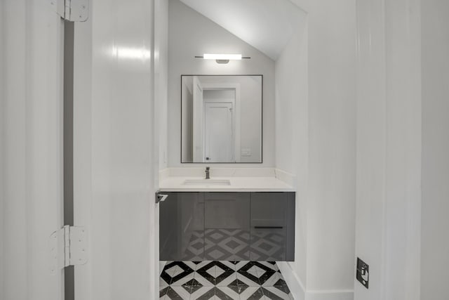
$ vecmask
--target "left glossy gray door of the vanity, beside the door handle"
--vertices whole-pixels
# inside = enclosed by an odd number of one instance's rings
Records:
[[[159,207],[159,259],[204,259],[203,193],[166,193]]]

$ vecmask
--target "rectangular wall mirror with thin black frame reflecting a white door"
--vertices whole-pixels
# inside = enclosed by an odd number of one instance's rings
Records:
[[[262,162],[262,75],[181,76],[181,162]]]

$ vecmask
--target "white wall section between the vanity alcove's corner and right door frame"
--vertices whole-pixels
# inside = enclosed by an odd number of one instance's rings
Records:
[[[342,294],[345,299],[351,298],[354,285],[354,8],[354,0],[308,5],[307,289],[335,293],[334,297]]]

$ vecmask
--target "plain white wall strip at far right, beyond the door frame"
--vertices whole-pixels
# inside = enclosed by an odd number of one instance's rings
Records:
[[[421,299],[449,299],[449,2],[422,1]]]

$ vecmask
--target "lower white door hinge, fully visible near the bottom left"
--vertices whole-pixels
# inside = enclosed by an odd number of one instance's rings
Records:
[[[87,230],[83,226],[64,226],[50,235],[50,270],[56,274],[67,266],[88,261]]]

